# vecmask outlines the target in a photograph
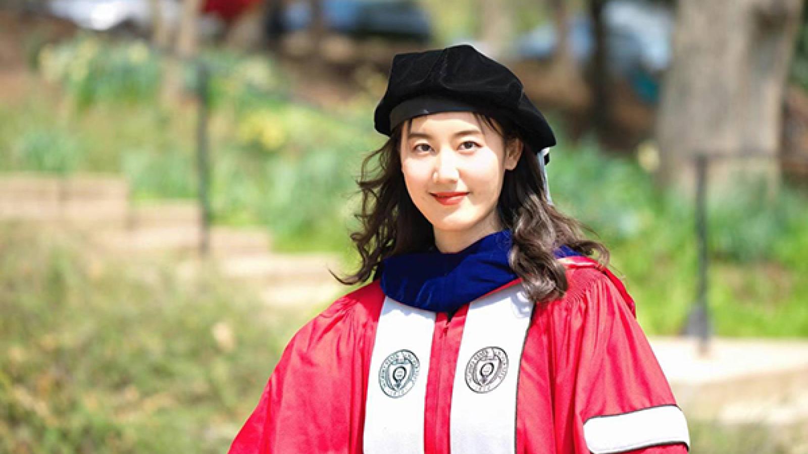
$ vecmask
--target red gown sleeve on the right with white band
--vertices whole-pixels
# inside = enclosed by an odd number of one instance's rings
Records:
[[[595,268],[568,274],[553,314],[558,452],[684,454],[684,414],[617,278]],[[617,288],[614,281],[617,281]]]

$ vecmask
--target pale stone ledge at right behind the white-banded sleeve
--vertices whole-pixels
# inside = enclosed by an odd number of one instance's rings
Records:
[[[652,338],[676,400],[693,418],[718,420],[760,402],[808,390],[808,340],[715,338],[701,356],[689,338]]]

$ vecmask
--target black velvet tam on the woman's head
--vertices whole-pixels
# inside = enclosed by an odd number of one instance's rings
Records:
[[[376,130],[389,137],[403,120],[470,109],[513,120],[534,153],[556,144],[553,131],[524,94],[519,78],[469,44],[396,54],[373,121]],[[396,124],[391,124],[391,113]]]

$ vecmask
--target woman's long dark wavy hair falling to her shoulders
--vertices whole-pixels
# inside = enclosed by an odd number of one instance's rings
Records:
[[[511,120],[477,112],[474,116],[499,133],[503,148],[517,138],[524,146],[516,168],[506,171],[503,179],[497,204],[499,222],[504,229],[511,229],[513,246],[508,262],[521,278],[528,296],[532,301],[553,301],[568,288],[565,268],[555,259],[553,250],[566,245],[580,254],[596,254],[601,267],[608,266],[608,250],[600,242],[584,238],[582,231],[586,227],[547,202],[536,155]],[[359,284],[371,276],[375,278],[381,261],[390,256],[435,246],[432,225],[410,199],[401,171],[400,146],[405,124],[410,128],[411,120],[393,128],[388,141],[362,162],[356,181],[362,193],[360,212],[356,214],[360,229],[351,233],[361,263],[350,275],[335,275],[342,284]]]

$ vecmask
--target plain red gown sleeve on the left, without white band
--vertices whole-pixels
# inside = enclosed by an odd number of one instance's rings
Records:
[[[361,452],[374,321],[358,306],[343,297],[295,334],[229,454]]]

